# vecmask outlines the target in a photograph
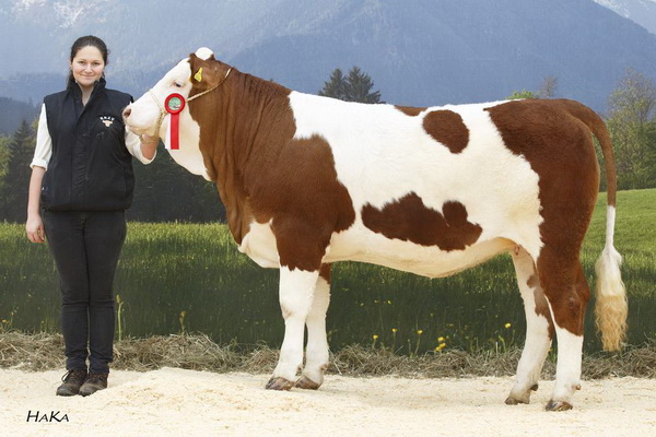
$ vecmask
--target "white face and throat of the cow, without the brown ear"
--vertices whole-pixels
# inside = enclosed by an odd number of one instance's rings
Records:
[[[157,118],[168,95],[178,93],[185,99],[188,98],[191,91],[190,78],[191,68],[189,59],[183,59],[150,92],[142,95],[129,106],[131,114],[126,122],[130,130],[137,134],[149,133],[157,134],[163,139],[166,138],[166,129],[168,128],[171,116],[166,114],[160,131],[154,132]],[[191,102],[190,104],[192,105],[194,103]],[[169,150],[168,152],[173,160],[187,170],[210,180],[202,153],[200,152],[200,126],[191,118],[188,105],[183,109],[179,117],[180,147],[179,150]]]

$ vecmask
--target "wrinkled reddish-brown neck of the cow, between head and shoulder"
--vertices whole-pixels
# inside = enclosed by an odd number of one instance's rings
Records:
[[[266,184],[278,151],[294,135],[288,88],[238,71],[216,93],[213,120],[201,123],[200,147],[216,182],[231,232],[242,243],[258,216],[249,202],[253,190]],[[204,127],[212,127],[207,129]]]

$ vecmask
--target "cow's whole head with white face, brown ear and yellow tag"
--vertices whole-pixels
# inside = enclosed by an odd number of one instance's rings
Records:
[[[155,86],[124,110],[125,122],[132,132],[157,135],[166,141],[171,115],[164,104],[169,95],[180,94],[187,104],[179,113],[179,150],[171,150],[171,156],[189,172],[208,180],[200,152],[200,125],[191,117],[189,103],[225,79],[225,74],[215,71],[218,69],[219,62],[214,62],[212,50],[200,48],[178,62]]]

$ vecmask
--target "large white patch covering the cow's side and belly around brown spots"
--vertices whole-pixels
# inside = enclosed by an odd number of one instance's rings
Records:
[[[356,221],[333,235],[326,262],[359,260],[427,276],[444,276],[508,249],[511,241],[537,259],[542,247],[539,225],[539,177],[530,164],[513,154],[485,108],[499,103],[429,108],[411,117],[390,105],[344,103],[297,92],[290,94],[294,138],[324,138],[331,147],[338,179],[353,200]],[[423,129],[431,110],[460,115],[469,143],[454,154]],[[467,208],[468,220],[482,227],[466,250],[389,239],[362,223],[362,208],[377,209],[414,192],[442,212],[447,201]]]

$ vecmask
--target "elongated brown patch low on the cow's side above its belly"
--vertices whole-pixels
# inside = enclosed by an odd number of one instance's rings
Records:
[[[417,193],[386,204],[378,210],[371,204],[362,208],[362,222],[387,238],[401,239],[442,250],[464,250],[475,244],[482,228],[468,220],[460,202],[444,203],[442,213],[427,208]]]

